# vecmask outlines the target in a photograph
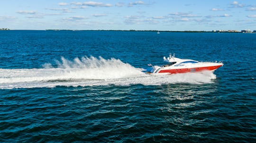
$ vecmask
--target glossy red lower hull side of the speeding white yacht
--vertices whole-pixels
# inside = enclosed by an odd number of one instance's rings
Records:
[[[165,69],[160,70],[158,73],[172,73],[172,74],[180,74],[180,73],[197,73],[204,70],[215,70],[222,65],[219,66],[211,66],[211,67],[194,67],[194,68],[179,68],[179,69]]]

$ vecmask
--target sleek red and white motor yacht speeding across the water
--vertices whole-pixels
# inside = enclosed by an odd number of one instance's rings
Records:
[[[181,73],[198,73],[202,71],[214,72],[217,68],[222,67],[222,61],[219,62],[199,62],[192,59],[175,58],[175,54],[170,53],[170,56],[164,61],[168,64],[164,66],[152,66],[146,69],[147,74],[181,74]]]

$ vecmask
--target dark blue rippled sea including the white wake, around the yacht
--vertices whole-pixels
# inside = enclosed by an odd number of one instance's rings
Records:
[[[255,143],[255,78],[256,34],[0,31],[0,143]]]

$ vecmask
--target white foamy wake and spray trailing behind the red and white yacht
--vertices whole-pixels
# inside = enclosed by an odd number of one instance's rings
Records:
[[[175,83],[211,83],[216,78],[211,72],[187,73],[167,76],[149,76],[141,69],[123,63],[119,59],[101,57],[75,58],[69,61],[62,57],[58,67],[45,64],[45,68],[0,69],[0,89],[34,88],[55,86],[93,85],[160,85]]]

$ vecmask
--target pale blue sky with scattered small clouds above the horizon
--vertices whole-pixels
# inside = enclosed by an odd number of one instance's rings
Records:
[[[1,0],[0,28],[256,30],[256,0]]]

